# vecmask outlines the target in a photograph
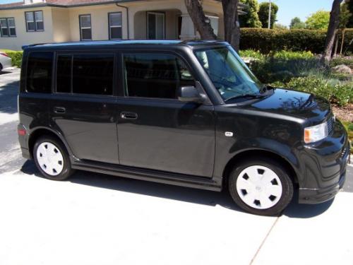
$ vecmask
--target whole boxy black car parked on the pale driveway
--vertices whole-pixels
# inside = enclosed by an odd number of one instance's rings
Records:
[[[277,215],[332,199],[347,132],[323,98],[263,85],[227,42],[24,47],[18,134],[44,177],[88,170],[220,192]]]

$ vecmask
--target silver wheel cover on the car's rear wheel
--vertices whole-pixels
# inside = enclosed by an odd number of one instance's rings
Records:
[[[63,171],[64,157],[53,143],[40,143],[36,156],[40,168],[48,175],[57,176]]]

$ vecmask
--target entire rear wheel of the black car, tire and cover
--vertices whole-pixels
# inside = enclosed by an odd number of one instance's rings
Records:
[[[52,136],[37,139],[33,148],[33,158],[47,179],[64,180],[73,173],[65,146]]]

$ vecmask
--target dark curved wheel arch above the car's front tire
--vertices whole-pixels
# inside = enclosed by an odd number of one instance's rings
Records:
[[[228,178],[230,173],[232,172],[234,165],[237,165],[237,163],[239,163],[239,161],[241,160],[246,160],[255,157],[265,157],[276,160],[285,167],[285,170],[287,170],[289,177],[292,179],[293,184],[297,185],[299,183],[299,178],[296,170],[286,158],[282,157],[281,155],[278,155],[277,153],[274,153],[273,151],[267,151],[263,149],[251,149],[237,153],[228,161],[222,174],[222,186],[227,187]]]

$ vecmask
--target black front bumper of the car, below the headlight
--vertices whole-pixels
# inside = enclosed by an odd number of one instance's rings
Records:
[[[319,204],[333,199],[345,184],[350,154],[347,132],[336,122],[332,136],[305,149],[306,174],[299,182],[299,204]]]

